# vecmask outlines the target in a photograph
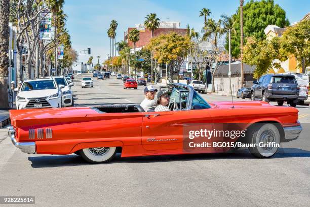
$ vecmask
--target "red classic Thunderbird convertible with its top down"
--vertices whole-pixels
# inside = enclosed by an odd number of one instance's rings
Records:
[[[117,152],[122,157],[228,152],[240,147],[233,145],[237,142],[248,144],[254,156],[266,158],[277,152],[279,143],[296,140],[302,130],[298,110],[292,107],[264,101],[209,103],[185,84],[170,84],[168,90],[168,112],[144,112],[132,104],[11,110],[8,133],[25,153],[75,153],[88,162],[100,163],[111,160]],[[217,137],[214,133],[201,139],[200,132],[224,129],[219,127],[224,123],[242,124],[245,136]],[[188,135],[191,129],[199,139]],[[197,145],[201,140],[206,142]]]

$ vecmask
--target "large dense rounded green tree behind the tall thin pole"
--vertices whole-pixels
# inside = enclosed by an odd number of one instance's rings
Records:
[[[240,8],[236,12],[237,19],[240,17]],[[274,0],[251,0],[243,7],[243,22],[244,22],[244,37],[254,37],[258,40],[266,39],[264,29],[269,24],[274,24],[279,27],[285,27],[289,25],[289,21],[286,18],[285,11],[275,4]],[[240,22],[235,25],[237,31],[236,34],[231,36],[231,54],[232,57],[238,58],[240,56],[240,39],[241,39],[241,27]],[[228,50],[228,39],[226,38],[225,44],[226,50]]]

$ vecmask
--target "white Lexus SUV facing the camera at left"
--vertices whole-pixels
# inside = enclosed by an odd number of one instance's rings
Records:
[[[60,108],[64,85],[57,85],[53,78],[26,80],[16,96],[16,109]]]

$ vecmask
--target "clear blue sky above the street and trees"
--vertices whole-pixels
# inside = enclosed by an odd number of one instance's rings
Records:
[[[310,0],[275,0],[275,3],[286,11],[290,23],[299,21],[310,12]],[[92,49],[91,55],[80,54],[79,62],[86,62],[89,56],[97,62],[99,55],[102,63],[110,51],[106,31],[112,19],[119,23],[116,38],[119,42],[124,39],[126,28],[143,23],[149,13],[156,13],[161,20],[180,21],[181,28],[189,24],[200,31],[203,18],[199,17],[199,11],[202,8],[209,8],[211,17],[218,19],[221,14],[235,13],[238,6],[239,0],[66,0],[64,12],[68,16],[66,27],[72,47],[75,50]]]

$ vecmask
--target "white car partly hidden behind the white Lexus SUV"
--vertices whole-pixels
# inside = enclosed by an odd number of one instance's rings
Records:
[[[73,83],[68,83],[65,77],[63,76],[53,76],[53,79],[56,81],[58,87],[64,85],[65,87],[61,89],[62,92],[62,105],[65,107],[73,107],[74,100],[71,91],[71,86]]]

